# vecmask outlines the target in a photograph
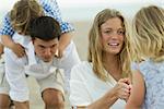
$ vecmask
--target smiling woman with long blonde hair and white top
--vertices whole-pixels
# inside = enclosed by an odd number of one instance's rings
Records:
[[[73,109],[125,107],[131,88],[127,35],[127,23],[120,12],[105,9],[95,16],[89,34],[87,61],[71,71]]]

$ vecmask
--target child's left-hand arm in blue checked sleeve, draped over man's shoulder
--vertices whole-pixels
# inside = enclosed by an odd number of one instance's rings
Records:
[[[0,29],[1,35],[1,43],[4,47],[8,47],[11,49],[19,58],[23,57],[25,55],[24,48],[15,44],[12,39],[12,36],[14,34],[14,29],[11,26],[9,14],[4,16],[2,27]]]

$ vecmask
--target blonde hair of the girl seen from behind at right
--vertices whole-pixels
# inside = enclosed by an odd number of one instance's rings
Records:
[[[142,8],[133,19],[132,28],[131,41],[138,58],[164,60],[164,9]]]

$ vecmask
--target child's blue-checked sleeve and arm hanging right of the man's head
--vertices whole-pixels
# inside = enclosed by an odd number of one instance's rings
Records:
[[[61,12],[56,0],[40,0],[40,4],[43,5],[46,15],[52,16],[60,23],[62,35],[59,40],[58,57],[61,58],[63,50],[67,48],[67,46],[70,44],[70,40],[72,39],[72,31],[74,31],[74,28],[70,23],[62,21]]]

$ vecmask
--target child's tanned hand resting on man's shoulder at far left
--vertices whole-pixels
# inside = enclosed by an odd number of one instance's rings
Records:
[[[20,44],[14,44],[11,49],[17,56],[17,58],[25,56],[25,49]]]

